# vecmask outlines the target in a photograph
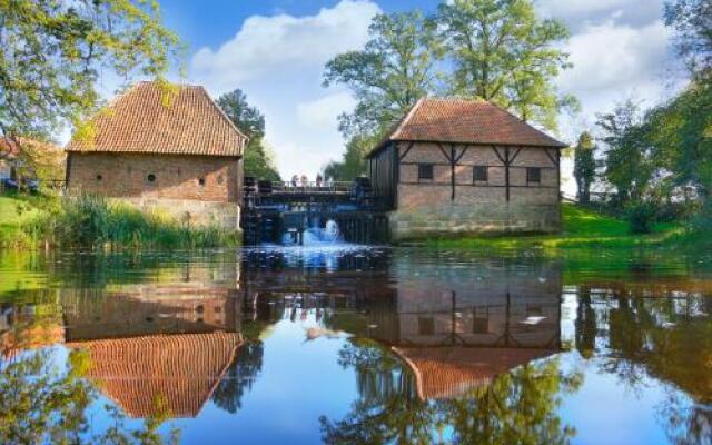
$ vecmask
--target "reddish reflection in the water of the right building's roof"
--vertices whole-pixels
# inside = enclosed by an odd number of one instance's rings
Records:
[[[415,374],[418,397],[453,398],[488,385],[496,376],[554,354],[534,348],[407,347],[393,348]]]

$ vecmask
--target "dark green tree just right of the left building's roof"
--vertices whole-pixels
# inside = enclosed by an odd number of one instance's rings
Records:
[[[249,138],[245,148],[245,175],[279,180],[279,172],[264,141],[265,115],[247,102],[247,96],[239,88],[220,96],[217,103],[235,127]]]

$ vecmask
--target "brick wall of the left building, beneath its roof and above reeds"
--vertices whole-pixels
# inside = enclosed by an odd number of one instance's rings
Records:
[[[68,188],[120,199],[184,222],[237,230],[240,169],[235,157],[71,152]]]

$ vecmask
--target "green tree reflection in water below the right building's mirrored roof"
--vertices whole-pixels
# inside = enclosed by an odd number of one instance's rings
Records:
[[[563,375],[555,359],[525,365],[457,398],[419,400],[412,374],[387,349],[352,342],[340,358],[358,374],[360,397],[344,419],[320,419],[327,444],[427,444],[444,432],[457,443],[560,444],[575,433],[556,409],[582,375]]]

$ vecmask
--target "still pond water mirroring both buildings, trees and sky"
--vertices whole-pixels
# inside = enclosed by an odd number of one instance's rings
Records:
[[[710,444],[711,265],[2,254],[0,442]]]

